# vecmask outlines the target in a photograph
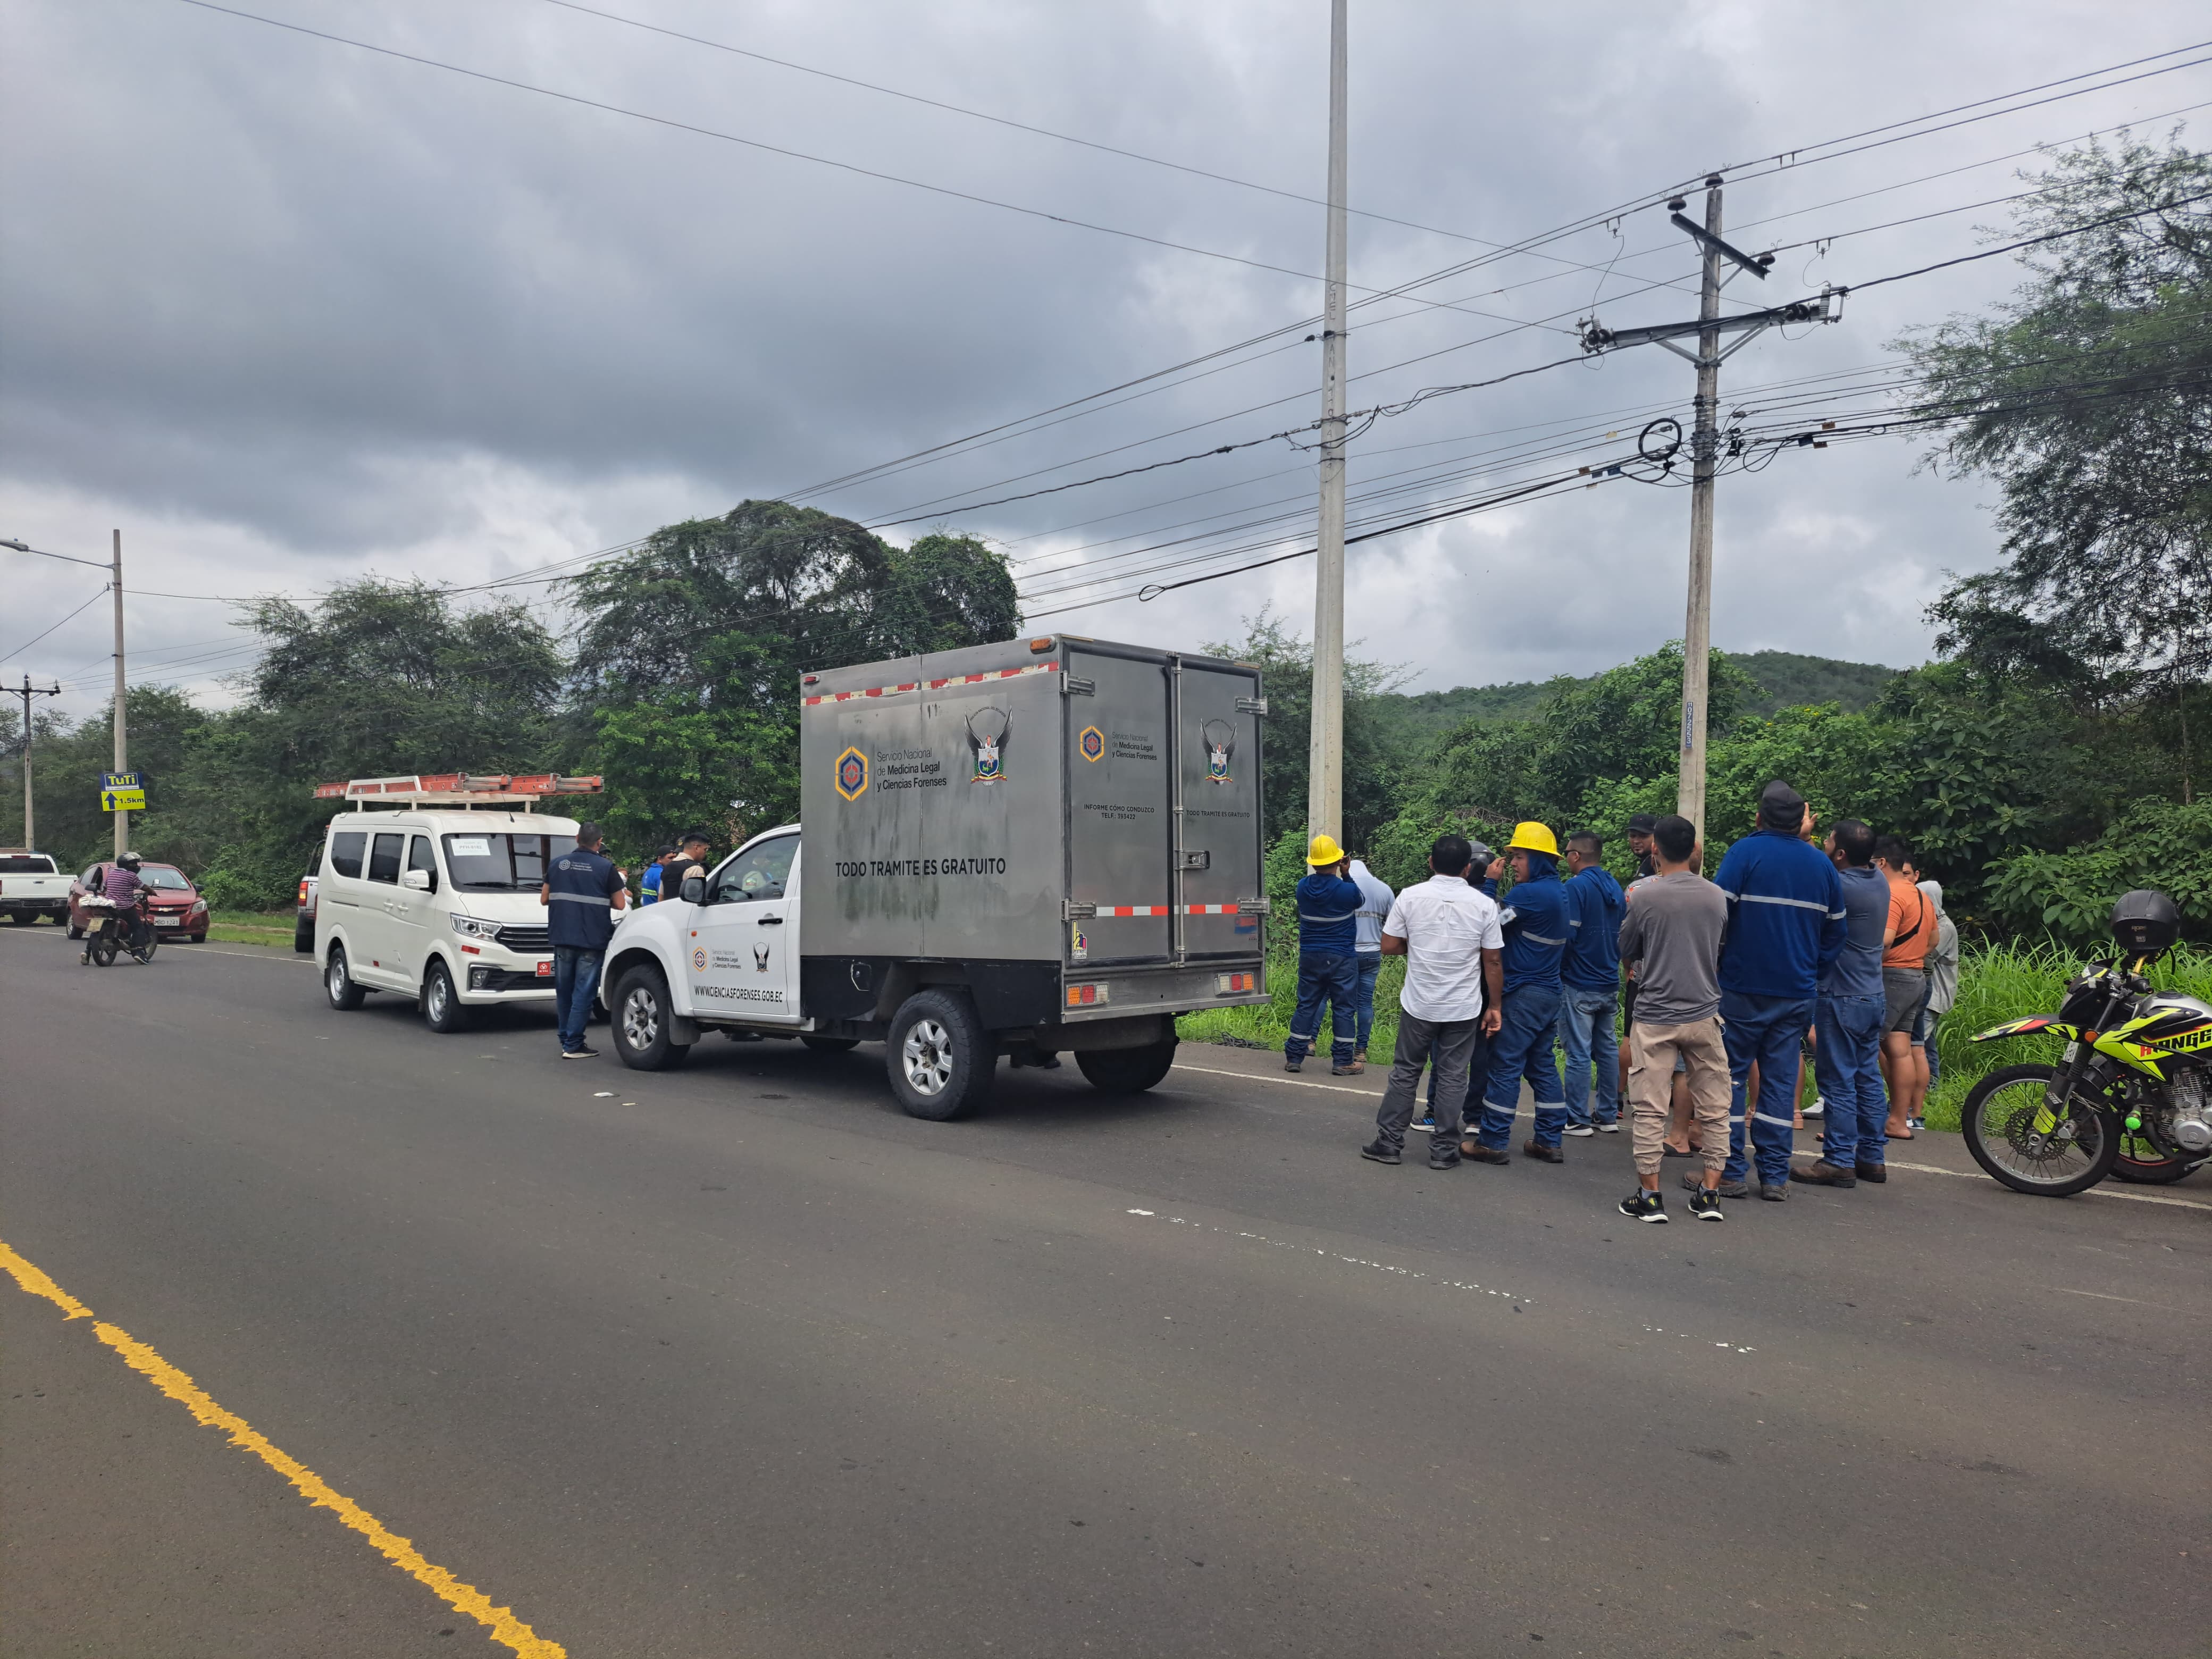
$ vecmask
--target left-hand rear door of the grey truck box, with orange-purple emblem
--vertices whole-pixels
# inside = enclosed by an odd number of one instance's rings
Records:
[[[1068,960],[1166,962],[1175,949],[1168,666],[1066,641]]]

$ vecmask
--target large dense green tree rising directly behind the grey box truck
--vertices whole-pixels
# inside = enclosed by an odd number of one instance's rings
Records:
[[[571,686],[588,710],[617,843],[730,841],[799,816],[799,677],[1011,639],[1006,562],[933,533],[896,549],[847,518],[743,502],[568,582]]]

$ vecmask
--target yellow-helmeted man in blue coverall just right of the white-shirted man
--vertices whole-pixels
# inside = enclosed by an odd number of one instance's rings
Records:
[[[1559,1093],[1559,1062],[1551,1040],[1559,1029],[1559,962],[1566,956],[1568,909],[1559,885],[1559,843],[1540,823],[1513,827],[1506,843],[1513,891],[1506,894],[1506,1004],[1504,1022],[1491,1037],[1491,1084],[1482,1097],[1482,1126],[1460,1141],[1460,1157],[1475,1164],[1511,1164],[1513,1108],[1522,1079],[1535,1093],[1535,1135],[1522,1150],[1544,1164],[1566,1164],[1559,1135],[1566,1128],[1566,1095]]]

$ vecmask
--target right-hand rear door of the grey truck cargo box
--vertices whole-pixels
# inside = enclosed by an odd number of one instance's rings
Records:
[[[1239,900],[1261,894],[1259,672],[1183,661],[1179,703],[1183,956],[1256,956],[1259,916]]]

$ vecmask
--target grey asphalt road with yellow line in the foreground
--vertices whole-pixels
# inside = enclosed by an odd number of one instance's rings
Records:
[[[2203,1175],[1648,1228],[1626,1135],[1385,1170],[1380,1079],[1239,1051],[938,1126],[252,947],[0,929],[0,1241],[97,1316],[0,1279],[9,1655],[515,1650],[161,1365],[580,1659],[2212,1639]]]

